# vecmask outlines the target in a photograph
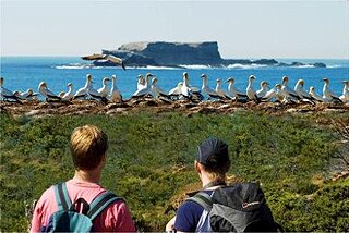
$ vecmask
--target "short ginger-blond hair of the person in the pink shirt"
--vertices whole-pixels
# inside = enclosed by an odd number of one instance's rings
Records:
[[[94,125],[76,127],[70,137],[70,151],[75,169],[97,168],[108,149],[108,136]]]

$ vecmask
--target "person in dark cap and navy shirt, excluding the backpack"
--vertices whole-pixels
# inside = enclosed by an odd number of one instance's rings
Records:
[[[216,188],[226,185],[226,174],[230,169],[228,145],[215,137],[204,140],[197,146],[194,168],[202,182],[202,192],[213,195]],[[201,205],[184,201],[167,223],[166,231],[197,232],[208,223],[205,212]]]

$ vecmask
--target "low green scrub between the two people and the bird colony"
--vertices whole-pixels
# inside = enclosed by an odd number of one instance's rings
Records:
[[[320,116],[135,113],[105,116],[0,115],[0,231],[26,231],[25,200],[73,175],[69,137],[95,124],[109,136],[103,185],[124,197],[140,231],[163,231],[169,200],[198,182],[196,145],[214,135],[229,144],[230,174],[263,184],[275,219],[287,231],[349,231],[349,182],[314,182],[328,175],[339,138]],[[348,113],[323,119],[349,119]],[[176,172],[180,167],[185,167]]]

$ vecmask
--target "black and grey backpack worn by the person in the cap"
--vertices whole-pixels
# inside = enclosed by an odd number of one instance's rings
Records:
[[[284,231],[274,221],[261,187],[255,183],[239,183],[214,191],[209,196],[198,192],[188,200],[195,201],[208,212],[213,232],[277,232]]]

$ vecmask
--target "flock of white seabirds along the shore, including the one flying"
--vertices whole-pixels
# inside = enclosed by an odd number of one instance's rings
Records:
[[[97,54],[82,57],[84,60],[108,60],[116,64],[121,65],[123,69],[124,63],[122,59],[108,56],[108,54]],[[183,82],[179,82],[176,87],[170,91],[165,91],[158,85],[158,79],[155,75],[147,73],[145,77],[142,74],[139,75],[136,90],[129,98],[122,98],[120,90],[117,87],[117,76],[112,75],[111,78],[103,78],[103,84],[99,89],[93,87],[92,75],[86,75],[85,86],[73,90],[73,84],[68,83],[68,91],[60,93],[56,95],[52,93],[45,82],[41,82],[38,85],[38,93],[34,93],[33,89],[27,89],[26,91],[11,91],[3,86],[4,78],[0,77],[0,99],[3,101],[15,101],[22,103],[23,100],[38,100],[38,96],[41,95],[46,101],[63,101],[70,102],[72,100],[86,100],[93,99],[98,100],[104,103],[108,102],[127,102],[132,99],[145,99],[145,98],[155,98],[163,101],[172,102],[176,100],[192,100],[192,101],[203,101],[203,100],[231,100],[237,102],[308,102],[315,105],[317,102],[334,102],[334,103],[349,103],[349,81],[342,81],[344,89],[340,96],[335,95],[329,89],[329,79],[323,78],[324,86],[322,95],[315,93],[314,87],[310,87],[309,91],[304,89],[304,81],[298,79],[294,88],[288,86],[289,78],[287,76],[282,77],[281,84],[276,84],[274,87],[269,87],[269,84],[265,81],[261,82],[261,88],[254,89],[254,81],[256,79],[254,75],[249,77],[249,83],[245,91],[234,87],[234,78],[229,77],[226,83],[228,83],[228,88],[222,88],[222,81],[217,78],[216,87],[210,88],[207,83],[207,76],[205,74],[201,75],[202,87],[193,87],[189,83],[188,72],[183,73]],[[111,82],[111,87],[108,87],[108,82]]]

